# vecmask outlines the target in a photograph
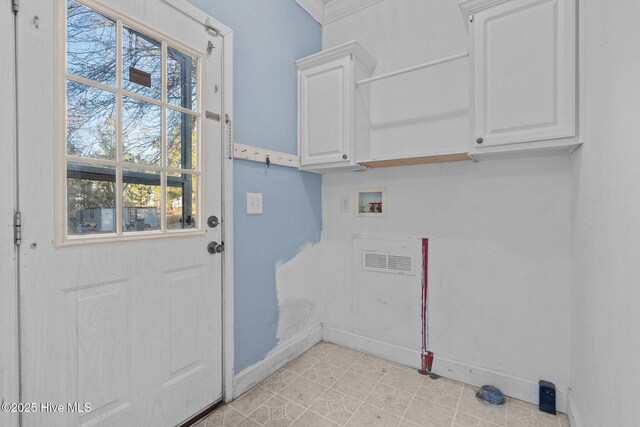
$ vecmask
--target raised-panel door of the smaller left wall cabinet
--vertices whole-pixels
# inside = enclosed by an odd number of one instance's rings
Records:
[[[348,164],[353,78],[350,57],[300,71],[300,164]]]

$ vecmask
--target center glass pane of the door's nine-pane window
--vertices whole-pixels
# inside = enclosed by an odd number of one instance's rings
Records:
[[[162,158],[162,108],[122,98],[122,158],[125,162],[159,165]]]

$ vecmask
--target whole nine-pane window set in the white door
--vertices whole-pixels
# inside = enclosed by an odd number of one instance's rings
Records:
[[[66,23],[65,235],[199,230],[201,58],[75,0]]]

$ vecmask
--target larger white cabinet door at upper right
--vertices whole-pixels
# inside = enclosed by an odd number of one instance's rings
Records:
[[[575,0],[513,0],[473,21],[472,144],[575,136]]]

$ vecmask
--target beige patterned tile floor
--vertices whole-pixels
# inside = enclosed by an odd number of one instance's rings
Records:
[[[196,424],[274,427],[569,427],[535,405],[478,400],[476,389],[321,342]]]

